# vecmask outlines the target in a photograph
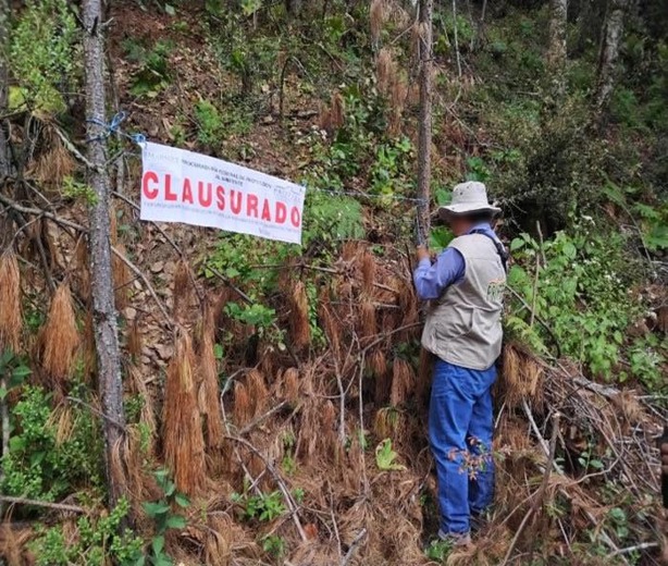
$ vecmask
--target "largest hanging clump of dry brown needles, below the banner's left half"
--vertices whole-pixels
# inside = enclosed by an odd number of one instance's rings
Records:
[[[194,494],[202,487],[206,470],[205,438],[193,377],[195,354],[190,337],[183,329],[178,330],[175,342],[162,411],[164,460],[177,488]]]

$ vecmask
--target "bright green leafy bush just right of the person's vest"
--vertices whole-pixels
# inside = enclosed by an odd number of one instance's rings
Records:
[[[531,306],[564,353],[585,362],[592,373],[611,379],[626,330],[643,309],[639,302],[629,300],[633,271],[622,237],[593,230],[586,222],[572,234],[558,232],[542,245],[527,234],[511,243],[517,263],[508,285],[523,296],[524,304],[511,302],[506,325],[545,350],[548,335],[541,327],[528,324],[532,316],[525,305]]]

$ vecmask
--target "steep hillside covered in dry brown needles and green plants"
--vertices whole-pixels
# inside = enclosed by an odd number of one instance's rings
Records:
[[[119,426],[97,393],[81,14],[64,0],[12,3],[0,34],[0,562],[659,564],[660,2],[573,2],[562,60],[546,2],[436,3],[431,206],[484,181],[512,253],[496,499],[465,551],[433,540],[432,360],[411,281],[416,12],[297,4],[110,2]],[[302,245],[141,222],[135,134],[305,185]],[[434,250],[450,237],[434,222]],[[106,463],[110,424],[122,443]],[[468,457],[462,472],[483,466]],[[126,497],[108,509],[114,478]]]

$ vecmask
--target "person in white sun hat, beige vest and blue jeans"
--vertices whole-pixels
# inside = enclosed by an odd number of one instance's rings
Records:
[[[422,333],[422,346],[436,357],[429,439],[438,477],[438,536],[455,546],[471,542],[470,520],[494,496],[491,389],[502,349],[507,260],[491,226],[498,212],[482,183],[455,186],[451,204],[438,214],[456,237],[434,263],[418,247],[413,273],[418,296],[433,300]]]

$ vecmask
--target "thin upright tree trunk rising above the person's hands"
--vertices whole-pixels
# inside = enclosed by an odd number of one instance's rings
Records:
[[[432,148],[432,14],[434,0],[420,0],[420,131],[418,135],[418,243],[428,244]]]

